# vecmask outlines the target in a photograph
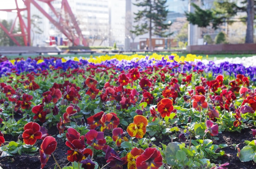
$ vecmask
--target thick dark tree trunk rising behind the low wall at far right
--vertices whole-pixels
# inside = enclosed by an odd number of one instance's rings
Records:
[[[253,43],[254,0],[247,0],[247,29],[245,43]]]

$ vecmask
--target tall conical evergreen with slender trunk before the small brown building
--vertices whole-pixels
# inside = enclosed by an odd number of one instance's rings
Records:
[[[149,33],[149,49],[152,49],[152,35],[167,37],[167,29],[169,24],[166,21],[168,10],[165,3],[167,0],[136,0],[135,6],[142,7],[143,10],[134,13],[134,21],[138,25],[134,26],[134,31],[130,31],[135,35],[143,35]]]

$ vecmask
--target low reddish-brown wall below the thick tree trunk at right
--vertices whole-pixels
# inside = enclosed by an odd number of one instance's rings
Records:
[[[256,53],[256,44],[215,44],[187,46],[187,52],[200,54]]]

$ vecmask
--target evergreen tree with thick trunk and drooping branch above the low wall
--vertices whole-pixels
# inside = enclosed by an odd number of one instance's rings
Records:
[[[188,21],[193,25],[198,25],[199,27],[212,25],[214,29],[217,29],[219,25],[225,22],[228,24],[235,22],[233,17],[237,13],[246,12],[247,17],[241,17],[240,21],[246,22],[247,25],[245,43],[253,43],[255,4],[255,0],[244,0],[242,1],[242,6],[238,6],[236,2],[230,2],[229,0],[217,0],[214,3],[213,9],[203,10],[192,3],[195,13],[186,13],[186,16]]]

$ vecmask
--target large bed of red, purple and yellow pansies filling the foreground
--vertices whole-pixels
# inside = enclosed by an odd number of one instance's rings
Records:
[[[0,166],[255,168],[256,67],[201,59],[1,59]]]

